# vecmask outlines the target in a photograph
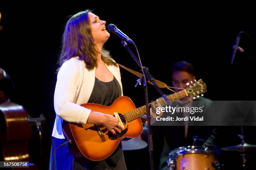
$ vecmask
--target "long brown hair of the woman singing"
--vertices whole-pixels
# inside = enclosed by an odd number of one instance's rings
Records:
[[[83,60],[85,67],[90,71],[97,67],[97,53],[95,43],[92,38],[90,18],[85,10],[73,15],[67,22],[63,36],[62,49],[59,56],[60,66],[70,58],[79,57]],[[117,64],[111,59],[109,51],[102,48],[101,58],[107,65]]]

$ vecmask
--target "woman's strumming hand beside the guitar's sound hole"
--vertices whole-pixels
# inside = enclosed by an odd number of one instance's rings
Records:
[[[112,115],[104,114],[102,125],[113,134],[116,134],[116,132],[121,133],[122,127],[118,124],[118,119]]]

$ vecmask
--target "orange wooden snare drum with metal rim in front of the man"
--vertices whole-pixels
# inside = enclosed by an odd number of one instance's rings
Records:
[[[215,152],[207,147],[179,147],[169,153],[169,170],[215,170]]]

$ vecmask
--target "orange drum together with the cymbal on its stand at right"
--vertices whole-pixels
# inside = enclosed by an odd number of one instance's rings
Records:
[[[239,135],[239,137],[242,139],[240,145],[223,147],[221,150],[240,152],[243,161],[241,168],[246,170],[248,153],[255,153],[256,145],[245,143],[243,135]],[[223,164],[218,162],[216,155],[216,152],[209,147],[198,147],[195,145],[179,147],[169,153],[167,165],[169,170],[222,170]]]

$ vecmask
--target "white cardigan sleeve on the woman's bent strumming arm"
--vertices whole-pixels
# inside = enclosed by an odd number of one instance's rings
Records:
[[[86,124],[91,110],[74,103],[81,74],[74,60],[62,64],[54,92],[54,110],[67,122]]]

